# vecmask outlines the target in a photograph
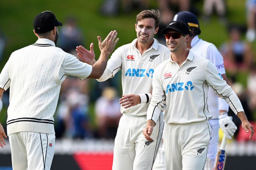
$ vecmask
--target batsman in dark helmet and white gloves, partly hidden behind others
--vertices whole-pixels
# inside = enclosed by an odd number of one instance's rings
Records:
[[[174,16],[174,21],[183,21],[188,24],[190,29],[190,39],[187,42],[187,48],[191,49],[196,55],[204,57],[210,60],[217,68],[218,72],[221,74],[224,80],[227,81],[227,76],[224,68],[223,57],[216,48],[216,46],[212,43],[204,41],[198,37],[200,35],[201,30],[199,26],[199,21],[196,16],[188,11],[178,12]],[[228,109],[229,106],[225,100],[220,98],[214,91],[210,88],[208,91],[207,97],[208,110],[212,115],[212,118],[209,119],[209,123],[211,125],[211,139],[209,143],[209,149],[207,153],[207,161],[205,170],[212,170],[214,165],[214,160],[217,153],[217,145],[219,139],[219,128],[221,127],[222,131],[231,139],[236,131],[237,127],[234,122],[228,117]],[[160,154],[161,152],[158,152]],[[162,152],[163,153],[163,152]],[[162,157],[162,156],[159,156]],[[153,170],[162,170],[165,169],[164,164],[162,164],[162,160],[156,158],[156,162],[154,164]],[[158,168],[157,168],[158,167]]]

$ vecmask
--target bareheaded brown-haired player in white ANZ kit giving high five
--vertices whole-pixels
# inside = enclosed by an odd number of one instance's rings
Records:
[[[152,92],[152,77],[158,64],[170,57],[170,51],[154,39],[160,22],[158,10],[144,10],[137,15],[132,43],[116,49],[106,70],[98,79],[102,82],[122,70],[123,96],[115,144],[113,170],[151,170],[162,137],[163,115],[158,116],[153,141],[145,140],[146,111]],[[82,48],[78,48],[82,52]],[[81,53],[82,55],[82,53]]]

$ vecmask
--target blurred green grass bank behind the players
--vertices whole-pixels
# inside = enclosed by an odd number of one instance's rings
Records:
[[[228,20],[231,22],[246,25],[245,19],[245,1],[246,0],[226,0]],[[4,33],[7,39],[4,58],[0,63],[0,69],[8,60],[8,57],[19,48],[30,45],[36,41],[36,36],[33,33],[34,17],[45,10],[50,10],[56,14],[59,21],[64,22],[67,16],[74,16],[77,19],[78,25],[84,32],[86,40],[85,47],[89,49],[90,43],[94,43],[94,50],[97,56],[98,50],[97,36],[106,37],[110,30],[116,29],[120,41],[116,45],[119,47],[126,43],[130,43],[136,38],[134,24],[138,10],[131,14],[121,13],[115,17],[104,17],[99,14],[99,8],[103,0],[1,0],[0,1],[0,30]],[[202,12],[203,0],[193,0],[192,6]],[[150,0],[151,8],[157,8],[157,1]],[[201,38],[214,43],[217,47],[228,39],[228,34],[225,25],[221,24],[216,16],[212,16],[208,23],[202,21],[199,17],[200,27],[202,30]],[[255,47],[255,43],[253,44]],[[241,76],[244,78],[245,76]],[[244,81],[241,78],[241,81]],[[91,110],[93,105],[91,106]],[[3,110],[4,112],[4,110]],[[4,115],[4,114],[2,114]],[[5,116],[1,115],[1,122],[5,122]],[[93,113],[92,113],[93,116]]]

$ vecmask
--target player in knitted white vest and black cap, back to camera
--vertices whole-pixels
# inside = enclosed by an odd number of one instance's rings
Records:
[[[7,134],[13,170],[50,170],[55,147],[53,115],[62,82],[68,75],[100,78],[119,40],[116,31],[111,31],[104,41],[98,36],[101,54],[92,66],[55,47],[61,25],[50,11],[38,14],[34,18],[38,40],[14,51],[0,74],[1,99],[10,88]],[[92,51],[86,52],[88,58],[94,58]],[[1,147],[5,145],[4,137],[0,124]]]

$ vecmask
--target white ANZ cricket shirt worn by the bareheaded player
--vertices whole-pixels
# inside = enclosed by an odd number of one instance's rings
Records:
[[[136,43],[137,39],[134,39],[132,43],[116,49],[106,67],[113,76],[122,70],[123,95],[152,92],[152,77],[156,66],[170,57],[170,50],[156,39],[143,55],[136,48]],[[146,115],[148,104],[138,104],[127,109],[121,106],[120,110],[130,115]]]

